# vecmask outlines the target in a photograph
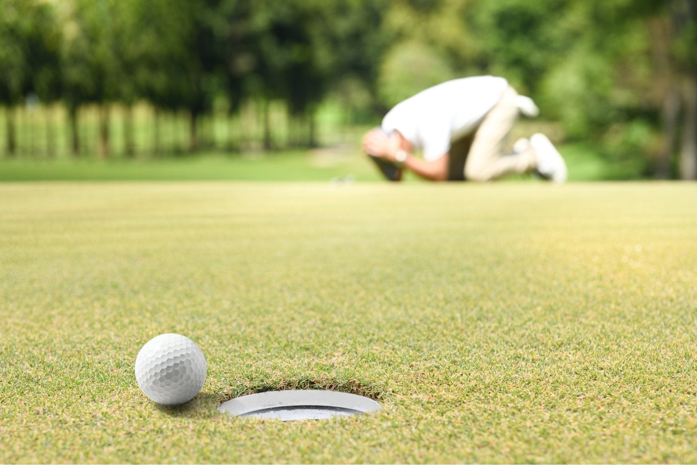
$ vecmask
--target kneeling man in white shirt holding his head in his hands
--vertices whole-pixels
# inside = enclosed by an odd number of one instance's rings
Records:
[[[545,135],[519,139],[513,153],[503,153],[521,112],[537,116],[538,110],[503,77],[453,79],[397,104],[362,147],[391,181],[403,169],[431,181],[491,181],[528,171],[566,181],[564,159]]]

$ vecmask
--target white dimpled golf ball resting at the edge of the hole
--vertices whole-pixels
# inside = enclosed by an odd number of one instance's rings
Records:
[[[206,381],[206,358],[188,337],[161,334],[149,340],[135,359],[135,379],[143,393],[163,405],[193,399]]]

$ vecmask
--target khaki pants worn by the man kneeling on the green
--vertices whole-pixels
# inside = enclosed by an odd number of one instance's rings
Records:
[[[537,166],[535,150],[505,155],[503,148],[518,118],[518,93],[511,86],[484,116],[473,135],[452,142],[448,179],[491,181],[505,174],[526,173]]]

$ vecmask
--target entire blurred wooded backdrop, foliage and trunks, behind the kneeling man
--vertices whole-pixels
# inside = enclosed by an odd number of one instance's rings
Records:
[[[0,0],[0,171],[358,156],[400,100],[493,74],[572,178],[695,179],[696,24],[696,0]]]

